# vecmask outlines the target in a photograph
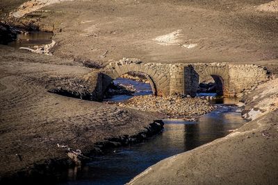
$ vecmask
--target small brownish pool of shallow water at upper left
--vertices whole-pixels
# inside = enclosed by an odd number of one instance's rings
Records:
[[[52,37],[53,33],[42,31],[30,32],[28,34],[17,34],[17,40],[9,42],[8,46],[20,48],[50,44],[52,42]]]

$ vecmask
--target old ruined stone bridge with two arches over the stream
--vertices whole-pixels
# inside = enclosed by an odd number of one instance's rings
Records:
[[[250,90],[269,78],[266,69],[254,64],[161,64],[123,59],[88,75],[90,79],[95,80],[97,99],[102,98],[113,80],[131,71],[144,73],[153,93],[157,96],[172,94],[196,96],[199,82],[211,76],[217,87],[222,89],[224,97],[240,97],[243,91]]]

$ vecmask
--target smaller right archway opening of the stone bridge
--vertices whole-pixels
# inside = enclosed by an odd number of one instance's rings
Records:
[[[223,78],[218,75],[206,76],[199,82],[197,94],[199,96],[223,96]]]

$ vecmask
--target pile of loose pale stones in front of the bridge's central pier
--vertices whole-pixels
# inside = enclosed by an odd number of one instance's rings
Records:
[[[160,112],[170,118],[195,119],[202,114],[211,112],[213,106],[201,98],[186,96],[134,96],[124,103],[117,103],[120,107],[140,109],[147,112]]]

